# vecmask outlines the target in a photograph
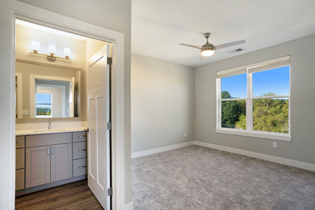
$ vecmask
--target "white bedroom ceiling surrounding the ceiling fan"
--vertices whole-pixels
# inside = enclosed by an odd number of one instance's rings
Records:
[[[196,67],[315,34],[315,0],[132,0],[131,51]],[[245,44],[217,50],[182,45]],[[227,51],[245,50],[230,54]]]

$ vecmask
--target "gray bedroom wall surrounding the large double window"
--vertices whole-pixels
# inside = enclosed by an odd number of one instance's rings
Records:
[[[312,35],[195,68],[195,141],[315,164],[314,47]],[[291,59],[291,142],[217,134],[216,71],[287,55]],[[272,142],[278,142],[278,148]]]

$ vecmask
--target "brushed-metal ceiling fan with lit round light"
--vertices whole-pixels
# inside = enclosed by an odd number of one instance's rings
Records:
[[[200,46],[195,46],[195,45],[187,45],[187,44],[179,44],[179,45],[184,45],[184,46],[189,46],[189,47],[193,47],[193,48],[197,48],[197,49],[201,49],[201,60],[204,60],[205,57],[209,57],[212,56],[214,51],[217,49],[222,49],[225,47],[229,47],[229,46],[234,46],[234,45],[240,45],[245,43],[245,40],[241,40],[241,41],[237,41],[237,42],[231,42],[231,43],[226,43],[223,45],[212,45],[210,43],[208,43],[208,38],[210,37],[211,33],[205,33],[204,37],[207,39],[207,42],[205,43],[205,45]]]

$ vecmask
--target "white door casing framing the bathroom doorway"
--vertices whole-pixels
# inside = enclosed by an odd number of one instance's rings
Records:
[[[34,24],[49,28],[63,30],[69,33],[97,39],[112,44],[112,75],[111,75],[111,111],[112,111],[112,208],[124,209],[125,205],[125,151],[124,151],[124,34],[105,29],[93,24],[79,21],[64,15],[56,14],[19,1],[6,1],[6,9],[10,9],[11,23],[4,22],[4,26],[11,25],[12,39],[9,41],[12,60],[7,60],[5,66],[11,66],[11,91],[8,102],[11,110],[15,110],[15,62],[16,62],[16,19],[21,19]],[[3,13],[7,15],[8,13]],[[5,18],[3,18],[5,19]],[[6,21],[6,20],[3,20]],[[8,52],[9,53],[9,52]],[[1,60],[2,61],[2,60]],[[13,111],[14,112],[14,111]],[[7,184],[1,185],[0,203],[1,209],[14,209],[15,207],[15,113],[10,120],[10,149],[0,154],[0,158],[9,159],[7,164],[2,165],[3,171],[8,173],[1,175],[7,180]],[[6,144],[7,145],[7,144]],[[119,181],[117,181],[119,180]],[[4,194],[3,192],[6,192]],[[5,196],[2,196],[5,195]]]

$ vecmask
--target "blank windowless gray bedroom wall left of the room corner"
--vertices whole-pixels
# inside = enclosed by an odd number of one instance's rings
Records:
[[[193,125],[193,68],[131,54],[131,151],[193,141]]]

